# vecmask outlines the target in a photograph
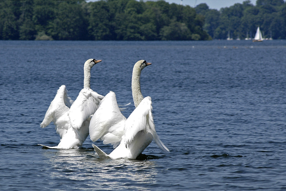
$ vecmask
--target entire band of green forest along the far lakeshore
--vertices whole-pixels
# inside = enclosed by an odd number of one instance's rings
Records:
[[[0,40],[210,40],[253,37],[285,39],[283,0],[237,3],[221,10],[165,1],[2,0]]]

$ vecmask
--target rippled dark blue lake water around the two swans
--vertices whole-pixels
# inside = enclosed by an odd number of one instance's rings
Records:
[[[133,65],[156,131],[142,160],[99,159],[55,146],[40,123],[57,89],[76,99],[83,64],[91,88],[132,104]],[[286,190],[286,40],[0,41],[0,190]],[[110,153],[111,145],[95,143]]]

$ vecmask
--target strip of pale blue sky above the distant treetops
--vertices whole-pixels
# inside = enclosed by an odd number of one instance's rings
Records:
[[[144,0],[145,1],[145,0]],[[221,9],[222,7],[230,7],[235,3],[242,4],[245,0],[165,0],[168,3],[176,3],[182,5],[190,5],[190,7],[196,7],[198,4],[206,3],[209,9]],[[250,1],[253,5],[256,4],[256,0]]]

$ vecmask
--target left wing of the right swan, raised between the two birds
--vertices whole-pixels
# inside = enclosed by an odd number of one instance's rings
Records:
[[[110,91],[90,120],[90,139],[97,141],[100,138],[104,144],[111,143],[114,148],[117,147],[124,133],[125,121],[126,118],[118,108],[115,93]]]

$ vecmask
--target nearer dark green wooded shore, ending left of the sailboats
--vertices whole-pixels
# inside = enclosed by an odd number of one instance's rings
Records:
[[[207,40],[194,8],[165,1],[2,1],[1,40]]]

